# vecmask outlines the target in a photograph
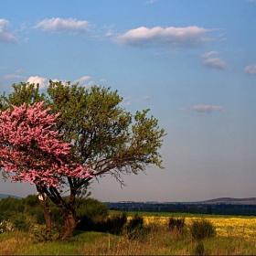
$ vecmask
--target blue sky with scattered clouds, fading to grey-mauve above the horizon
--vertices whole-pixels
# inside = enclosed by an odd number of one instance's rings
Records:
[[[2,0],[0,91],[111,87],[165,129],[165,169],[91,184],[101,201],[256,197],[255,0]],[[0,194],[35,194],[0,179]]]

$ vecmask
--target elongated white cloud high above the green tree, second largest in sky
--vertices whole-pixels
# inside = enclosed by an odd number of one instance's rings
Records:
[[[89,22],[85,20],[78,20],[75,18],[49,18],[37,23],[35,28],[40,28],[42,31],[51,32],[87,32],[89,30]]]

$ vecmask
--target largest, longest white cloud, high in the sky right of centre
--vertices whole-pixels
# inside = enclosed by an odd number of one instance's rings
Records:
[[[208,31],[203,27],[138,27],[116,37],[116,42],[132,47],[198,47],[208,41]]]

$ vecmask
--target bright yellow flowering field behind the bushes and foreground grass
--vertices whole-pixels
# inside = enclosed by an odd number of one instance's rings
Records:
[[[193,219],[185,218],[185,223],[190,225]],[[240,237],[249,240],[256,240],[256,218],[206,218],[215,226],[219,237]],[[156,224],[168,226],[169,217],[144,216],[144,224]]]

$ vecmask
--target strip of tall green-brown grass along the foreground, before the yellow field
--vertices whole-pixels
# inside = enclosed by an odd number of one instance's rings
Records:
[[[176,235],[167,225],[155,221],[148,225],[143,239],[129,240],[129,235],[80,232],[68,241],[37,242],[25,232],[0,234],[0,254],[4,255],[255,255],[256,237],[217,236],[193,240],[185,220],[185,231]],[[187,230],[187,231],[186,231]],[[235,228],[234,228],[235,231]],[[200,249],[201,248],[201,249]],[[202,250],[203,248],[203,250]]]

